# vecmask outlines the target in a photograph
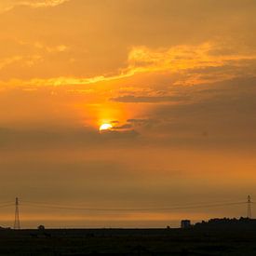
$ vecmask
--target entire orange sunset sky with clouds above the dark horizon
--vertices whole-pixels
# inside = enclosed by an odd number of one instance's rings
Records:
[[[256,196],[255,12],[255,0],[1,0],[0,205],[18,196],[22,227],[246,216],[228,202]],[[0,217],[12,226],[14,206]]]

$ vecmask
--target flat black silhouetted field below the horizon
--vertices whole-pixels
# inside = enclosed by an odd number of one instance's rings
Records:
[[[0,230],[0,255],[256,255],[256,230]]]

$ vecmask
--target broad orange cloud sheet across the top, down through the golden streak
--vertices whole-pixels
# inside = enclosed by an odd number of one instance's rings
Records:
[[[225,1],[214,7],[210,0],[76,0],[65,5],[61,5],[61,0],[0,2],[2,8],[33,7],[15,8],[2,15],[0,29],[5,33],[1,34],[1,42],[6,41],[1,47],[4,52],[9,51],[6,58],[25,55],[21,48],[18,54],[11,52],[17,50],[10,50],[13,37],[30,44],[38,41],[48,51],[40,55],[43,61],[33,68],[14,62],[8,65],[1,77],[13,84],[87,85],[140,74],[184,74],[192,69],[224,68],[228,64],[241,71],[247,68],[245,61],[255,60],[251,36],[254,24],[249,21],[254,17],[253,1]],[[227,3],[232,3],[232,7]],[[20,16],[24,18],[21,21]],[[47,46],[49,42],[52,46]],[[60,54],[48,54],[53,51]],[[191,74],[187,81],[215,82],[234,76],[235,72],[219,73],[215,78],[203,79]]]

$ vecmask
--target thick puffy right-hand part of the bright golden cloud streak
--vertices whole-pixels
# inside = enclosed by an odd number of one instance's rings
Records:
[[[197,46],[182,45],[178,47],[150,49],[148,47],[134,47],[128,54],[128,70],[137,73],[168,72],[172,74],[188,74],[194,78],[194,83],[222,81],[236,77],[237,69],[245,71],[248,68],[247,61],[256,61],[255,51],[235,51],[225,54],[212,54],[220,49],[220,45],[206,42]],[[234,68],[233,72],[225,73],[225,67]],[[195,70],[205,73],[209,69],[221,72],[214,77],[201,79],[195,74]],[[200,74],[200,72],[198,72]],[[192,79],[191,79],[192,80]]]

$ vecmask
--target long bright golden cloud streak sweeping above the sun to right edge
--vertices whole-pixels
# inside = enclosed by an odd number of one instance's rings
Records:
[[[22,81],[12,79],[9,84],[34,87],[88,85],[124,79],[135,74],[166,73],[182,74],[182,80],[176,81],[176,83],[185,85],[214,83],[250,73],[249,67],[253,66],[251,61],[256,61],[255,52],[230,50],[227,54],[218,54],[218,48],[219,46],[211,43],[158,49],[133,47],[128,52],[127,68],[120,69],[115,74],[92,77],[38,77]],[[55,51],[65,51],[66,49],[67,47],[64,45],[50,48]]]

